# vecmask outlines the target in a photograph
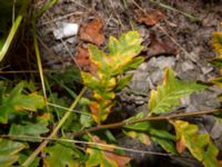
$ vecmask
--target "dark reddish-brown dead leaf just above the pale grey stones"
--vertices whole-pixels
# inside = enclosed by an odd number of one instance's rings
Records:
[[[148,47],[147,57],[150,58],[152,56],[158,55],[176,55],[178,50],[172,45],[172,41],[169,38],[158,38],[155,33],[150,33],[150,46]]]

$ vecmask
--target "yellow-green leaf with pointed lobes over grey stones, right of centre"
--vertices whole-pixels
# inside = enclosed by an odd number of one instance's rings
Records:
[[[172,107],[180,105],[180,98],[205,88],[205,86],[195,82],[176,79],[172,69],[167,68],[163,76],[163,84],[157,90],[151,90],[149,100],[150,115],[160,115],[170,111]]]

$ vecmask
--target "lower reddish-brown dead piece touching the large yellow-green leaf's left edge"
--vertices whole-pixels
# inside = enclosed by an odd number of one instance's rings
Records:
[[[77,48],[75,62],[84,71],[93,73],[97,70],[97,67],[90,61],[88,49],[81,47],[81,45]]]

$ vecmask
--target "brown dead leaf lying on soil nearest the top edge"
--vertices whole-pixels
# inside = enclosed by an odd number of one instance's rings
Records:
[[[149,27],[154,26],[157,22],[162,20],[164,14],[159,10],[141,11],[135,10],[135,19],[140,23],[145,23]]]

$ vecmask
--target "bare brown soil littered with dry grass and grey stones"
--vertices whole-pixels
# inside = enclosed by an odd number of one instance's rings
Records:
[[[42,6],[39,1],[37,8]],[[175,10],[173,10],[175,9]],[[120,107],[124,109],[127,118],[137,111],[147,110],[149,92],[162,80],[165,67],[172,67],[176,77],[183,80],[209,81],[219,76],[215,67],[209,59],[215,57],[212,48],[213,31],[221,30],[222,21],[221,0],[60,0],[38,20],[38,35],[42,41],[41,52],[44,67],[61,69],[74,66],[77,48],[80,45],[79,36],[56,40],[53,31],[61,22],[72,22],[84,26],[93,19],[100,18],[103,22],[102,35],[104,43],[100,48],[107,50],[109,36],[119,37],[122,32],[138,30],[143,38],[143,56],[147,61],[139,69],[131,71],[134,77],[120,96]],[[137,17],[139,12],[161,11],[163,18],[152,26],[147,26]],[[191,14],[194,18],[189,18]],[[157,46],[158,47],[157,47]],[[84,46],[84,43],[83,43]],[[221,94],[218,87],[194,94],[181,100],[178,109],[183,111],[209,110],[220,107],[216,96]],[[211,116],[196,119],[201,130],[211,134],[212,139],[222,148],[222,126]],[[216,126],[216,127],[215,127]],[[120,138],[124,147],[135,149],[157,150],[141,146],[129,138]],[[201,166],[193,159],[176,157],[149,157],[149,155],[130,154],[133,166]],[[160,160],[161,159],[161,160]],[[144,163],[145,161],[145,163]],[[158,163],[159,161],[159,163]]]

